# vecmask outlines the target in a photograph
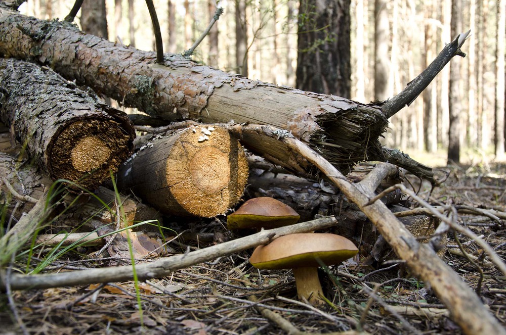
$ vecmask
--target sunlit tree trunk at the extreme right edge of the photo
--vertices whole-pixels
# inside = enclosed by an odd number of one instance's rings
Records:
[[[494,147],[495,158],[504,158],[504,27],[506,26],[505,0],[497,4],[497,39],[495,53],[495,127]]]

